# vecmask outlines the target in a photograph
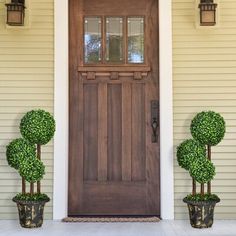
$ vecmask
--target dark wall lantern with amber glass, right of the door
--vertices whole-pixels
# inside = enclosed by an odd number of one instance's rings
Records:
[[[200,25],[214,26],[216,24],[216,8],[217,4],[214,0],[201,0],[200,9]]]

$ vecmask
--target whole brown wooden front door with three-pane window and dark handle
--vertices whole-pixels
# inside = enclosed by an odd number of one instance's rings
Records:
[[[158,1],[69,2],[68,215],[160,215]]]

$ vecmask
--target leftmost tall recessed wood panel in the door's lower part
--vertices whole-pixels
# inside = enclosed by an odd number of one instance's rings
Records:
[[[84,85],[84,179],[97,180],[98,174],[98,89]]]

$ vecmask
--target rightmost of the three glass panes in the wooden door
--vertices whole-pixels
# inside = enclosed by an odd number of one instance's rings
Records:
[[[144,18],[128,18],[128,62],[144,63]]]

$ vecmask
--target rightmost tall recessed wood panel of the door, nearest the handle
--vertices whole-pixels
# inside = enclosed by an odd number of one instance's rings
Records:
[[[145,180],[144,84],[132,85],[132,180]]]

